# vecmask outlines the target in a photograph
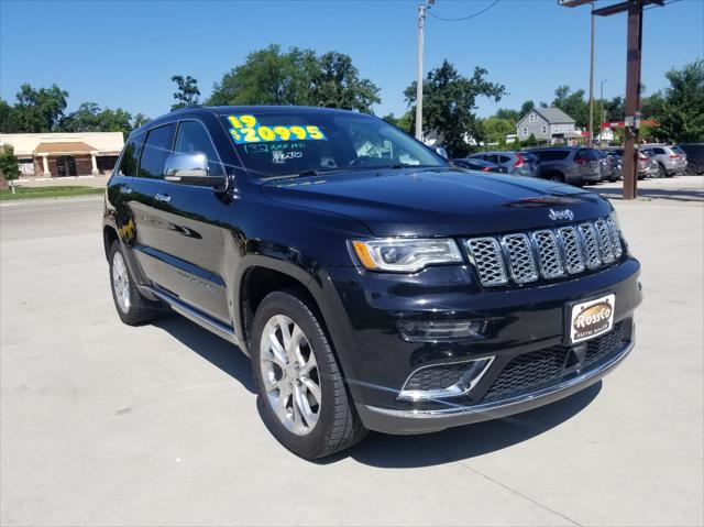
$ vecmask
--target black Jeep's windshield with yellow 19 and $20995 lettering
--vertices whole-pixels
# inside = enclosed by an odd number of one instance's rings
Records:
[[[448,166],[396,127],[364,114],[267,111],[222,120],[245,168],[257,177]]]

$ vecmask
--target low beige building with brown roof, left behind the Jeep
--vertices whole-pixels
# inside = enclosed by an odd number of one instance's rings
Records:
[[[122,132],[0,133],[11,144],[22,177],[89,176],[112,173],[124,144]]]

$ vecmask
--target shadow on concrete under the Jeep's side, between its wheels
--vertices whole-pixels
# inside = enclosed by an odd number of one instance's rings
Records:
[[[172,312],[164,315],[153,326],[163,329],[205,360],[218,366],[251,393],[256,393],[250,359],[237,345],[212,334],[180,315]]]

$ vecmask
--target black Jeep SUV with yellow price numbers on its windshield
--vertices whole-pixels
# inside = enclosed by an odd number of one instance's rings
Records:
[[[145,124],[108,184],[103,239],[120,318],[170,307],[238,345],[266,426],[306,458],[582,389],[631,350],[641,301],[608,201],[453,168],[339,110]]]

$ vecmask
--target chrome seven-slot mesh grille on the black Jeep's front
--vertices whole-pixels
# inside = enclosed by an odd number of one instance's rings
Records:
[[[610,218],[594,222],[472,238],[464,248],[483,286],[527,284],[594,271],[624,254],[620,232]]]

